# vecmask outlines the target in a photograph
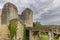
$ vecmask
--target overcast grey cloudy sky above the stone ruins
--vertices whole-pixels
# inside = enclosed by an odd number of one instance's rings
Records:
[[[60,25],[60,0],[0,0],[1,9],[6,2],[15,4],[19,14],[27,7],[32,9],[33,21]]]

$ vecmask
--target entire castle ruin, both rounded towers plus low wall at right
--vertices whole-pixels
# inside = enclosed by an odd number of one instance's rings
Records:
[[[23,40],[23,28],[26,25],[29,32],[28,40],[41,40],[40,33],[48,32],[48,40],[53,40],[54,33],[60,35],[60,26],[41,26],[33,27],[33,12],[26,8],[21,15],[18,14],[17,7],[12,3],[5,3],[2,10],[0,10],[0,40],[10,40],[9,37],[9,21],[16,20],[18,22],[17,40]]]

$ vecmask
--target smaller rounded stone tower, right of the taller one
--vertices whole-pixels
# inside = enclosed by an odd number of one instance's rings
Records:
[[[33,27],[33,12],[29,8],[26,8],[22,14],[21,19],[25,23],[26,27]]]

